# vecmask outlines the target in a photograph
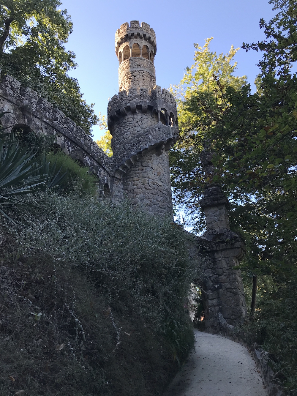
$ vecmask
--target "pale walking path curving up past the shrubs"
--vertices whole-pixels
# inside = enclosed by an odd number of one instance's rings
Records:
[[[163,396],[267,396],[256,364],[241,344],[195,331],[195,351]]]

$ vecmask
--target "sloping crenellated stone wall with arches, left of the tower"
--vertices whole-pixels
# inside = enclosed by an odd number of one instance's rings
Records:
[[[36,91],[22,87],[19,80],[9,75],[2,76],[1,70],[0,111],[7,112],[2,118],[3,126],[25,125],[36,133],[55,135],[56,143],[67,154],[89,166],[98,176],[105,175],[106,179],[111,173],[109,157],[91,136]]]

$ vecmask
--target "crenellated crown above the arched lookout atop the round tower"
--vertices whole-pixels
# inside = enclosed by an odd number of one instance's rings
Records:
[[[156,54],[156,34],[154,29],[148,25],[148,23],[139,21],[130,21],[130,26],[128,22],[123,23],[120,29],[116,31],[115,35],[115,45],[116,45],[116,55],[118,56],[118,48],[123,42],[134,39],[143,39],[149,42],[154,48],[154,53]]]

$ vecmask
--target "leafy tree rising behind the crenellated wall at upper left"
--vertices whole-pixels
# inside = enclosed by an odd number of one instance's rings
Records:
[[[4,0],[0,4],[0,67],[65,112],[86,133],[97,123],[93,104],[82,99],[77,66],[66,51],[72,22],[59,0]]]

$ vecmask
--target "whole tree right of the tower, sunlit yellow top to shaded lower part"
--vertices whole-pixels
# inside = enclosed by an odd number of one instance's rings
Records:
[[[210,50],[212,39],[208,38],[203,48],[194,44],[197,49],[194,64],[186,68],[180,84],[171,87],[177,98],[180,129],[180,139],[169,153],[173,198],[175,205],[183,206],[186,214],[194,219],[197,231],[204,226],[198,202],[203,191],[201,180],[204,175],[200,152],[205,140],[211,136],[210,131],[221,109],[228,107],[223,98],[227,87],[238,90],[246,84],[246,76],[234,76],[237,63],[232,65],[232,61],[239,48],[231,46],[226,55],[217,55]]]

